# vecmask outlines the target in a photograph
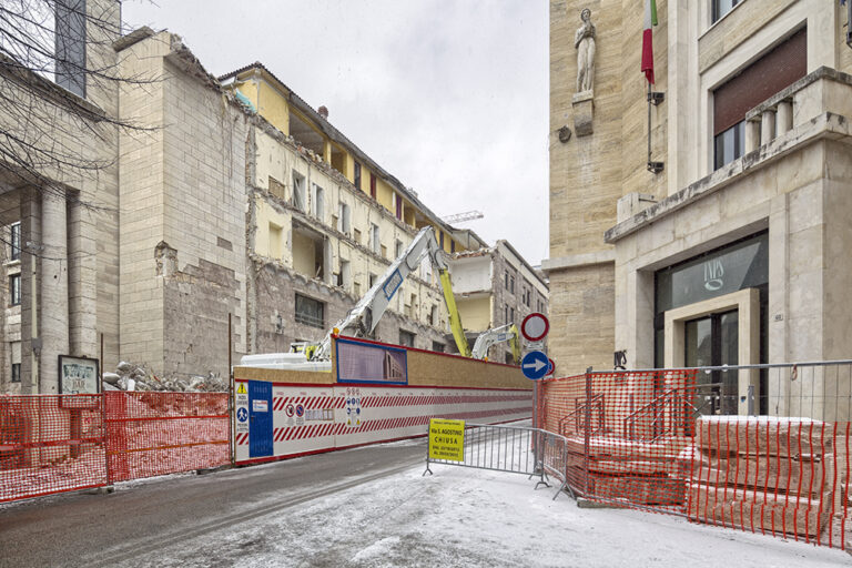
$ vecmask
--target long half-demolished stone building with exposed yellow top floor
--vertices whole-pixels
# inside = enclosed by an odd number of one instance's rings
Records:
[[[104,36],[89,37],[87,62],[142,84],[83,78],[72,92],[0,67],[7,83],[53,93],[41,103],[59,121],[73,121],[69,105],[85,109],[91,136],[65,142],[72,129],[60,122],[54,139],[104,163],[75,175],[45,170],[59,195],[0,164],[0,392],[57,393],[59,355],[102,356],[108,371],[131,361],[160,377],[224,375],[229,355],[239,363],[321,339],[425,226],[447,255],[485,246],[438,219],[264,65],[217,79],[175,34],[119,36],[118,4],[85,3],[114,23],[112,36],[109,27],[87,30]],[[22,128],[14,113],[0,110],[0,121]],[[424,264],[375,338],[443,351],[453,344],[447,320]]]

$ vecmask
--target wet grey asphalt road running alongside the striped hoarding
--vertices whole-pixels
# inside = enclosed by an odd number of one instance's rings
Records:
[[[410,468],[420,443],[120,484],[0,507],[0,567],[121,566],[141,555]]]

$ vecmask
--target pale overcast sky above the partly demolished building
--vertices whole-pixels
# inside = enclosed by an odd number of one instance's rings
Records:
[[[547,256],[547,0],[125,0],[215,75],[261,61],[489,244]]]

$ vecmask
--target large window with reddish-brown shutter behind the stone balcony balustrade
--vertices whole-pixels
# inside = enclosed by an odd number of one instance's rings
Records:
[[[808,72],[808,30],[801,29],[713,91],[713,166],[746,152],[746,113]],[[761,141],[761,144],[769,140]]]

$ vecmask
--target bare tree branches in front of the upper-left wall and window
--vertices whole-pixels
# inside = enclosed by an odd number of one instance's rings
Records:
[[[114,109],[120,89],[161,80],[122,72],[119,14],[112,0],[0,2],[0,178],[11,186],[108,209],[69,187],[115,166],[122,132],[156,130]]]

